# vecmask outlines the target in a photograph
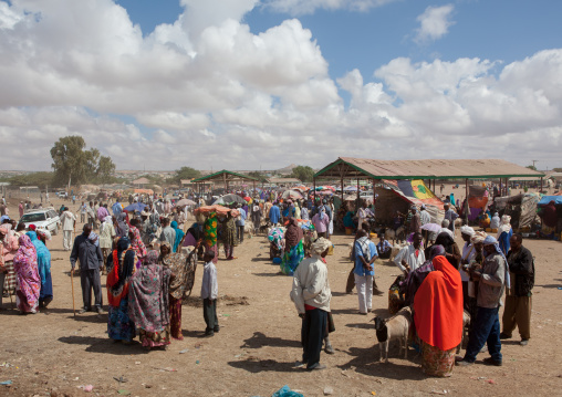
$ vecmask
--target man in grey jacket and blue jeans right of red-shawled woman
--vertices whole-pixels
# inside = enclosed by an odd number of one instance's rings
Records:
[[[486,254],[483,267],[470,268],[470,278],[478,281],[478,312],[473,318],[465,358],[457,362],[459,366],[473,364],[477,354],[486,343],[491,357],[485,358],[485,364],[502,365],[498,312],[504,286],[509,283],[507,260],[499,248],[498,240],[491,236],[483,240],[483,251]]]

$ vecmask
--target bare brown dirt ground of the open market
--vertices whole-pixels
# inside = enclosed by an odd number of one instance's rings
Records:
[[[56,208],[60,202],[54,202]],[[77,209],[77,205],[74,208]],[[12,215],[17,208],[10,208]],[[80,230],[82,224],[77,226]],[[334,355],[322,353],[327,369],[308,373],[294,367],[301,358],[300,324],[289,299],[292,278],[279,274],[269,260],[264,237],[246,238],[235,261],[218,263],[220,333],[204,338],[205,322],[197,299],[201,267],[192,297],[184,305],[185,339],[168,351],[146,353],[138,343],[114,344],[106,333],[106,315],[73,316],[69,252],[62,237],[48,243],[52,253],[54,301],[49,312],[19,315],[10,300],[0,313],[0,396],[271,396],[283,385],[304,396],[525,396],[558,395],[562,388],[562,244],[527,240],[535,255],[537,281],[532,338],[521,347],[517,330],[502,344],[503,366],[477,364],[455,368],[451,378],[428,378],[420,358],[410,349],[398,357],[392,345],[389,364],[378,363],[375,314],[387,315],[387,296],[374,297],[374,314],[357,314],[356,294],[345,294],[352,263],[346,259],[352,237],[335,236],[334,255],[327,257],[332,311],[336,331],[331,334]],[[457,236],[460,244],[460,236]],[[398,274],[394,265],[377,262],[377,283],[385,290]],[[106,301],[105,276],[102,278]],[[75,303],[81,306],[80,279],[74,279]],[[115,378],[123,377],[123,383]],[[86,393],[80,386],[93,385]],[[326,390],[329,391],[329,390]]]

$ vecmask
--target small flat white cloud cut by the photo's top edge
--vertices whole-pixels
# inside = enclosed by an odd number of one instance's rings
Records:
[[[365,12],[398,0],[266,0],[264,7],[290,15],[311,14],[321,10],[350,10]]]

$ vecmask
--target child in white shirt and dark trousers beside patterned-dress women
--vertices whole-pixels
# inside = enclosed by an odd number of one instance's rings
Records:
[[[207,328],[205,336],[214,336],[219,332],[219,320],[217,318],[217,296],[219,288],[217,284],[217,268],[212,260],[215,252],[207,251],[204,255],[205,267],[202,271],[201,297],[202,297],[202,316]]]

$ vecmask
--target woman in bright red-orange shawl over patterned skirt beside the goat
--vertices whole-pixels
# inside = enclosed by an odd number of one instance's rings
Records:
[[[455,349],[462,337],[462,282],[445,257],[435,257],[430,272],[414,297],[414,321],[422,339],[422,369],[450,376]]]

